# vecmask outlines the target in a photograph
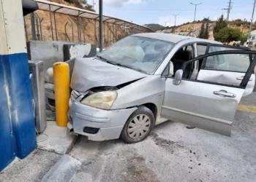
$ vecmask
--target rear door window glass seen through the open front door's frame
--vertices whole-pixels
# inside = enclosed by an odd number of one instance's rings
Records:
[[[238,50],[231,47],[210,47],[210,52]],[[236,71],[245,73],[249,68],[249,55],[227,54],[214,55],[203,60],[205,69],[219,70],[219,71]]]

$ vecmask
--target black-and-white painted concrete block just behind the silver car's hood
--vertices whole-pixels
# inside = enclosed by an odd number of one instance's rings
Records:
[[[96,55],[95,44],[64,44],[64,61],[72,58],[90,58]]]

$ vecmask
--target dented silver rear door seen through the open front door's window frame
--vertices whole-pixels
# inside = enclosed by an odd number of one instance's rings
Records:
[[[208,44],[206,54],[227,50],[248,50],[245,47],[233,47],[222,44]],[[204,58],[201,64],[197,79],[208,82],[218,82],[221,84],[241,84],[241,81],[252,63],[252,55],[230,54],[213,55],[211,58]],[[249,79],[244,90],[244,95],[252,93],[255,87],[255,74]]]

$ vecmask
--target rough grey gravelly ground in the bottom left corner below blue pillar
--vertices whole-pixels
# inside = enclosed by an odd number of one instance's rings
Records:
[[[42,177],[60,157],[59,154],[37,149],[23,160],[15,159],[10,166],[0,173],[0,181],[41,181]]]

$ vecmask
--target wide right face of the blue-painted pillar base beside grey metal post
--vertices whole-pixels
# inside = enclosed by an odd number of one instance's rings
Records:
[[[16,156],[23,159],[37,147],[27,53],[0,55],[0,60],[8,88],[6,95],[10,98],[12,143]],[[8,121],[3,120],[4,124]]]

